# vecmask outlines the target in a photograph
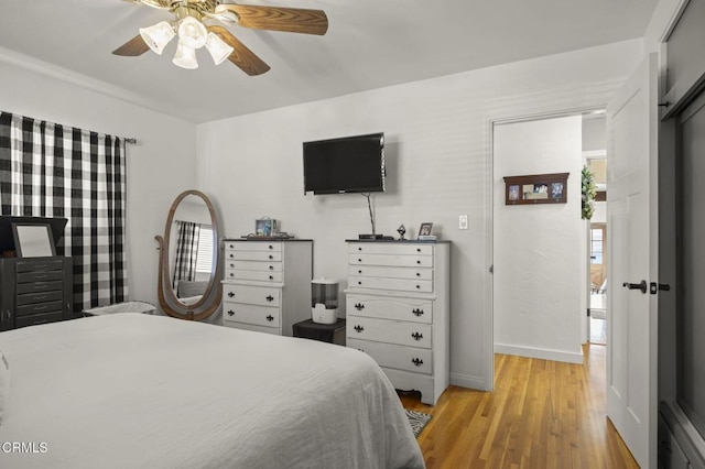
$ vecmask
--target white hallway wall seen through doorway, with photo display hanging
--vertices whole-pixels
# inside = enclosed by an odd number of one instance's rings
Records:
[[[583,362],[582,117],[495,126],[495,351]],[[565,204],[505,205],[505,176],[570,173]]]

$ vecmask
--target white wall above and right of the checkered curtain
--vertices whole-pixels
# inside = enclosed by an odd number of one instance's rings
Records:
[[[138,140],[127,150],[130,298],[156,304],[154,236],[163,234],[174,198],[195,188],[195,126],[88,90],[83,83],[57,79],[51,70],[14,65],[1,55],[0,109]]]

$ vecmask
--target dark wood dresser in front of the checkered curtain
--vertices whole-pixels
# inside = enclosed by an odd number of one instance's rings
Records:
[[[73,317],[70,258],[0,259],[0,330]]]

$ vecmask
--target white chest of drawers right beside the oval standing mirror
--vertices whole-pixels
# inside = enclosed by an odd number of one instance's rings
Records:
[[[223,325],[292,335],[311,318],[312,240],[225,240]]]

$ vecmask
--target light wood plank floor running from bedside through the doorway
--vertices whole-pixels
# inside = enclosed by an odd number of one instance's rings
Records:
[[[638,468],[605,416],[605,347],[584,346],[584,364],[495,356],[495,391],[448,388],[419,436],[434,468]]]

